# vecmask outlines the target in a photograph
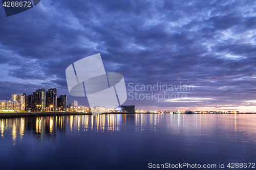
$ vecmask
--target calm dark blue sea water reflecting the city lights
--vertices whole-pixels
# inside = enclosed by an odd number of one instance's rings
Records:
[[[256,163],[256,114],[43,116],[0,119],[0,127],[0,169]]]

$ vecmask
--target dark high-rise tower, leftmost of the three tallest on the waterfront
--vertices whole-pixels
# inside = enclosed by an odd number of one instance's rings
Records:
[[[46,89],[38,89],[33,92],[34,111],[45,111],[46,109]]]

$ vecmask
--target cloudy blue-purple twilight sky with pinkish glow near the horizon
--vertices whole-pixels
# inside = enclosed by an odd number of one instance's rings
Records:
[[[41,0],[10,17],[0,7],[0,100],[57,88],[89,106],[65,71],[100,53],[124,77],[123,105],[256,112],[255,29],[255,1]]]

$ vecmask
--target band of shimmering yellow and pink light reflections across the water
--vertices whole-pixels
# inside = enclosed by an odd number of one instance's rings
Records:
[[[99,114],[8,118],[1,119],[0,123],[1,137],[11,134],[15,145],[17,138],[22,140],[29,131],[41,138],[55,137],[61,132],[79,135],[82,132],[164,131],[166,134],[210,135],[228,131],[223,138],[237,141],[243,140],[241,136],[255,136],[255,121],[255,114]]]

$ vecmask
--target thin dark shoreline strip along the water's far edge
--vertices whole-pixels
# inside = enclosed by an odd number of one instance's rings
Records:
[[[142,114],[125,112],[105,112],[102,114]],[[143,113],[143,114],[255,114],[255,113]],[[32,116],[64,116],[64,115],[92,115],[91,112],[0,112],[0,118],[32,117]]]

